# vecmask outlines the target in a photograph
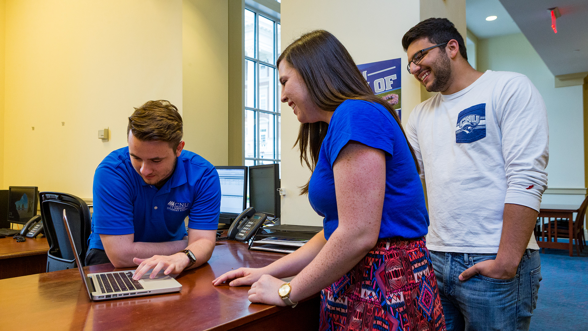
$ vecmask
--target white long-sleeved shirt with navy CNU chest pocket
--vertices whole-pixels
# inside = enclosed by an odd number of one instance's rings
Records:
[[[547,111],[533,83],[486,71],[410,114],[406,134],[426,178],[427,248],[497,253],[505,203],[539,210],[547,188]],[[527,248],[539,249],[534,236]]]

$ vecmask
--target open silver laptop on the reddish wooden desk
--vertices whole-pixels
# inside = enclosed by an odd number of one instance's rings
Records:
[[[126,270],[122,272],[105,272],[85,274],[83,272],[82,262],[79,259],[78,250],[74,244],[74,236],[69,230],[68,218],[65,216],[65,231],[68,233],[69,243],[74,250],[75,262],[78,264],[79,274],[82,276],[83,284],[88,290],[90,300],[109,300],[121,299],[131,296],[146,296],[150,294],[179,292],[182,284],[178,283],[173,277],[159,272],[154,279],[149,279],[151,270],[146,272],[141,279],[134,280],[135,270]]]

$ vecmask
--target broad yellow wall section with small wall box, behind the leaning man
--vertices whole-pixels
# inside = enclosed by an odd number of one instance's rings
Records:
[[[92,197],[132,107],[182,109],[182,1],[8,0],[5,12],[4,188]]]

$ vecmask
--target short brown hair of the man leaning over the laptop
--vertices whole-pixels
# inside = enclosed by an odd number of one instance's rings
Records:
[[[147,101],[129,117],[126,136],[129,131],[143,141],[165,141],[173,150],[182,141],[182,117],[178,108],[167,100]]]

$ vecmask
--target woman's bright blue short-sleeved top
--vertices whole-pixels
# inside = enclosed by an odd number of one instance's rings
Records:
[[[320,146],[310,177],[308,199],[323,219],[325,239],[339,226],[333,163],[350,141],[379,148],[386,154],[386,191],[379,238],[418,238],[427,234],[425,196],[406,138],[392,114],[380,104],[346,100],[337,107]],[[357,212],[358,221],[362,211]]]

